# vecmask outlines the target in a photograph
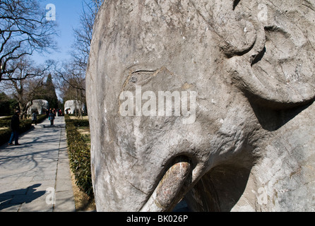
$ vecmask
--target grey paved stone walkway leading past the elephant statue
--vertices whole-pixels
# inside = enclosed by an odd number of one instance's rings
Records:
[[[0,212],[74,212],[64,117],[0,146]]]

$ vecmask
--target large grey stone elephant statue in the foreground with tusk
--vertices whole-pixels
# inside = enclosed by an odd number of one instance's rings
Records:
[[[311,1],[105,1],[86,77],[97,211],[314,210]]]

